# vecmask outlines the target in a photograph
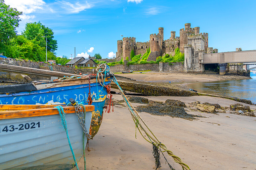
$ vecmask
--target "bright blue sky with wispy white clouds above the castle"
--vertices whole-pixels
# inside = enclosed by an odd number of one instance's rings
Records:
[[[194,3],[196,2],[196,3]],[[158,27],[164,27],[164,39],[170,31],[200,27],[209,33],[209,47],[219,52],[256,49],[256,1],[162,1],[162,0],[5,0],[23,11],[17,29],[26,22],[40,21],[54,31],[57,56],[88,57],[100,53],[115,57],[117,40],[136,37],[146,42]]]

